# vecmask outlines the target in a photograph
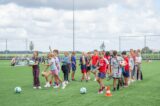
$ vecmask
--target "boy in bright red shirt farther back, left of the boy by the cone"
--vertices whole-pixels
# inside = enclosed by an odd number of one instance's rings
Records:
[[[91,72],[94,74],[95,76],[95,81],[97,80],[96,79],[96,71],[97,71],[97,65],[98,65],[98,51],[97,50],[94,50],[94,55],[92,56],[92,66],[91,66]]]

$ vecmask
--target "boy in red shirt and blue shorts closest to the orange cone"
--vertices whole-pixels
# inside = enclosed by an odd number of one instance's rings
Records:
[[[98,60],[99,63],[99,73],[98,73],[98,78],[97,78],[97,82],[100,85],[100,89],[98,91],[98,94],[102,94],[103,90],[105,89],[104,83],[103,83],[103,79],[106,77],[106,70],[107,70],[107,65],[109,64],[108,60],[104,58],[104,55],[102,52],[100,52],[99,54],[100,58]]]

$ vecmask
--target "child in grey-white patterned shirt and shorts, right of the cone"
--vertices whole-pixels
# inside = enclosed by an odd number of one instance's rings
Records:
[[[122,68],[123,58],[117,55],[117,51],[113,51],[113,57],[111,59],[111,70],[113,76],[113,91],[119,90],[120,84],[122,84]],[[118,86],[117,85],[118,80]]]

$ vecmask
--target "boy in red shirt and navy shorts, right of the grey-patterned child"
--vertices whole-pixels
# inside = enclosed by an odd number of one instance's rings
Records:
[[[129,66],[129,59],[128,59],[128,56],[127,56],[127,53],[126,51],[123,51],[122,52],[122,57],[125,61],[125,66],[124,66],[124,71],[123,71],[123,76],[124,76],[124,84],[125,86],[124,87],[128,87],[128,78],[129,78],[129,69],[130,69],[130,66]]]

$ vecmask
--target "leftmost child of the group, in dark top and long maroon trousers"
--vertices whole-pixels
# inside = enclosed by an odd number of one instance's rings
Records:
[[[34,51],[32,60],[35,62],[34,65],[32,65],[32,72],[33,72],[33,88],[34,89],[41,89],[40,81],[39,81],[39,61],[40,58],[38,57],[38,51]]]

